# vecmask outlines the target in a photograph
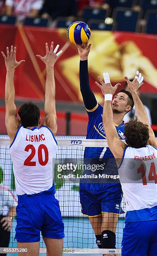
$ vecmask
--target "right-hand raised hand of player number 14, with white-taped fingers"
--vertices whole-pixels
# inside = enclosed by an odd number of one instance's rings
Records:
[[[142,84],[144,84],[143,81],[143,76],[139,71],[137,70],[136,72],[136,76],[134,78],[134,80],[132,82],[130,82],[128,77],[124,78],[127,81],[127,86],[128,86],[128,90],[133,93],[136,92],[140,89],[140,87],[142,86]]]

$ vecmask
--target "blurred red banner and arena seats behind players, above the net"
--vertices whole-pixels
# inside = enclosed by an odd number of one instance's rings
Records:
[[[91,28],[88,67],[97,101],[103,103],[94,83],[102,72],[109,72],[112,84],[120,82],[125,88],[124,76],[132,79],[139,70],[145,79],[140,97],[157,136],[157,0],[0,0],[0,51],[14,45],[17,60],[26,60],[15,72],[17,108],[31,100],[43,118],[46,73],[36,54],[45,55],[45,42],[54,41],[63,50],[55,64],[57,134],[86,135],[80,58],[67,38],[67,28],[76,20]],[[7,134],[5,74],[0,56],[0,134]]]

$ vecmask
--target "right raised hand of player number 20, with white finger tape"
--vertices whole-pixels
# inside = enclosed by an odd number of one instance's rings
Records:
[[[62,53],[62,51],[59,51],[56,54],[56,52],[59,48],[59,44],[57,44],[55,50],[53,51],[53,42],[51,42],[50,51],[49,51],[49,47],[48,47],[47,43],[45,44],[45,46],[46,46],[46,55],[42,57],[41,55],[37,54],[36,56],[39,59],[41,59],[41,61],[43,61],[46,66],[53,67],[57,60],[57,56],[59,56]]]

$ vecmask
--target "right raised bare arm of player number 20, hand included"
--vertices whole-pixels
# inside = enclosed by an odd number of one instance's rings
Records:
[[[53,132],[54,135],[57,133],[57,115],[55,108],[55,77],[54,77],[54,65],[57,60],[57,49],[59,45],[53,51],[53,42],[51,42],[50,50],[48,44],[46,46],[46,55],[44,57],[37,55],[46,66],[46,84],[45,84],[45,119],[43,125],[46,125]]]

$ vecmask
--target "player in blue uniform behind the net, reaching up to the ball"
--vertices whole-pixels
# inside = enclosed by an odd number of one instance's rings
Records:
[[[80,55],[80,90],[89,117],[86,138],[106,139],[102,123],[103,108],[98,104],[89,84],[87,60],[90,46],[91,44],[77,46]],[[118,85],[112,87],[112,94],[115,94]],[[125,139],[123,118],[133,108],[133,105],[131,93],[125,90],[117,93],[112,100],[113,121],[121,139]],[[115,169],[115,159],[110,148],[85,148],[84,158],[85,161],[87,159],[91,161],[102,159],[102,161],[105,161],[105,173],[111,174],[113,172],[112,168]],[[114,161],[107,164],[110,159]],[[90,219],[99,248],[115,248],[116,246],[115,231],[121,200],[122,188],[120,183],[80,182],[82,213]]]

